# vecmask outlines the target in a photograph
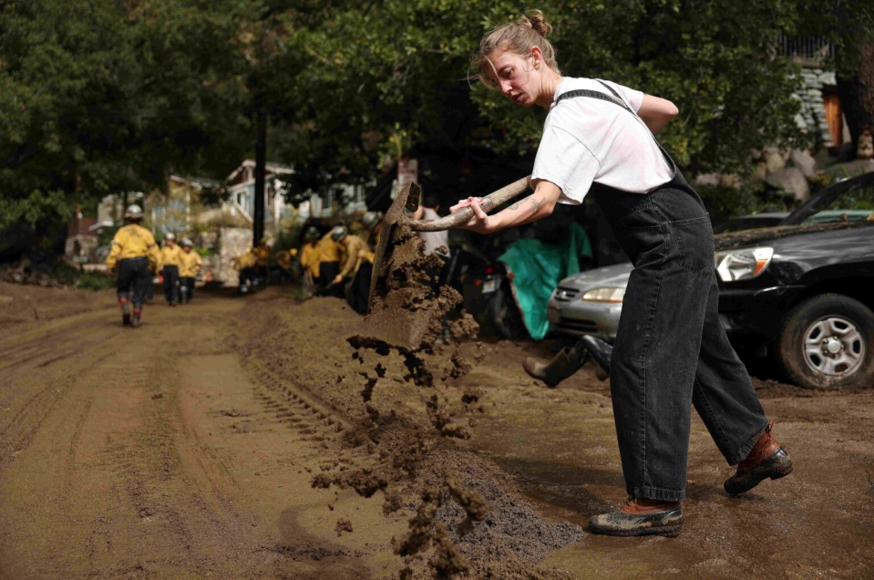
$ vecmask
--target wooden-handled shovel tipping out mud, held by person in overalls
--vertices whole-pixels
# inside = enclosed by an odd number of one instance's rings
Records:
[[[489,193],[482,199],[480,207],[483,212],[490,212],[502,203],[519,197],[524,192],[529,191],[531,176],[523,177],[519,181],[514,181],[509,185],[499,189],[497,192]],[[386,217],[383,218],[382,231],[379,235],[379,243],[376,246],[376,254],[374,257],[374,273],[370,279],[370,294],[367,300],[367,310],[370,311],[373,305],[376,287],[379,283],[380,273],[383,272],[383,262],[386,256],[390,255],[389,244],[392,243],[393,233],[397,226],[407,225],[414,232],[443,232],[449,228],[456,227],[462,223],[468,223],[473,217],[473,210],[469,207],[462,208],[458,212],[450,213],[446,217],[438,220],[411,220],[406,217],[404,210],[415,212],[419,205],[419,195],[421,189],[416,183],[409,183],[395,198],[395,202],[386,212]],[[387,274],[387,273],[386,273]]]

